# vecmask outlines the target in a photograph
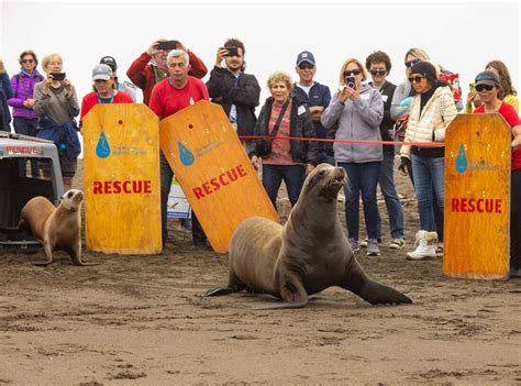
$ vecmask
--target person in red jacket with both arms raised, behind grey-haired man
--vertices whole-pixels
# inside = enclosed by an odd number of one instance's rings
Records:
[[[126,76],[132,82],[143,90],[143,103],[146,106],[149,104],[154,86],[168,78],[166,58],[173,49],[182,49],[188,54],[190,58],[190,71],[188,75],[201,79],[208,73],[202,60],[196,54],[185,48],[181,42],[167,41],[165,38],[155,41],[146,52],[132,63],[126,71]]]

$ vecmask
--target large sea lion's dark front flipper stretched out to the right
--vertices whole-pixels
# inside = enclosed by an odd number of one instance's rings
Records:
[[[410,298],[398,290],[369,279],[356,258],[354,256],[352,258],[341,284],[342,288],[351,290],[372,305],[407,305],[412,302]]]

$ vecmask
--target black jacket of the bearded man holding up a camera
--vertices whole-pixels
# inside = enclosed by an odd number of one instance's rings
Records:
[[[210,79],[207,81],[208,93],[210,98],[222,97],[220,101],[213,101],[221,104],[230,115],[232,104],[237,109],[237,135],[253,135],[257,118],[255,108],[260,98],[260,87],[254,75],[242,73],[239,79],[226,68],[213,67],[210,73]]]

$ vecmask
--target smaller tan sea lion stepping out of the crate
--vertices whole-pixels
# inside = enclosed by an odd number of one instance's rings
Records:
[[[84,192],[78,189],[67,190],[56,208],[42,196],[34,197],[22,208],[18,228],[30,228],[31,233],[44,246],[47,261],[36,263],[46,266],[53,263],[53,251],[65,251],[76,265],[81,261],[81,202]]]

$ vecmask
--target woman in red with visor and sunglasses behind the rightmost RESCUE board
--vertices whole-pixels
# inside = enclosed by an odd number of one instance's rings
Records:
[[[516,109],[502,99],[499,77],[490,70],[479,73],[475,79],[476,92],[483,102],[474,113],[499,113],[519,136],[520,120]],[[519,141],[519,139],[517,137]],[[521,277],[521,147],[512,152],[510,190],[510,277]]]

